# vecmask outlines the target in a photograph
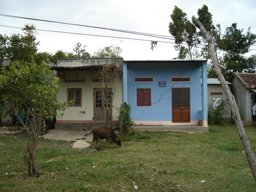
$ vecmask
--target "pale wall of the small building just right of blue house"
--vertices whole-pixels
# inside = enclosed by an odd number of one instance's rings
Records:
[[[211,92],[222,92],[222,95],[211,95]],[[230,104],[228,104],[227,96],[221,84],[208,84],[208,107],[212,106],[212,98],[221,98],[221,100],[225,102],[225,112],[223,116],[227,118],[231,117],[231,107]]]

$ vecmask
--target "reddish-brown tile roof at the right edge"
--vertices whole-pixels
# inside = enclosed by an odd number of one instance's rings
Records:
[[[256,73],[234,73],[245,88],[256,88]]]

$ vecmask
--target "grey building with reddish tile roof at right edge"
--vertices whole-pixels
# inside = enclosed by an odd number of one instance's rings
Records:
[[[252,107],[256,104],[256,73],[233,73],[231,83],[241,120],[245,125],[255,125]]]

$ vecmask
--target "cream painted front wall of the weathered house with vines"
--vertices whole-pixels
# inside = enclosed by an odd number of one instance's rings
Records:
[[[97,71],[65,71],[65,78],[59,79],[60,91],[58,94],[59,102],[66,102],[68,100],[69,88],[81,88],[82,89],[82,106],[81,107],[69,107],[64,111],[62,117],[57,117],[57,121],[93,121],[93,89],[101,88],[101,82],[93,82],[94,78],[100,78]],[[65,83],[65,79],[85,79],[82,83]],[[114,85],[109,85],[109,88],[113,88],[113,118],[112,120],[118,120],[117,107],[120,107],[123,103],[123,80],[120,78]]]

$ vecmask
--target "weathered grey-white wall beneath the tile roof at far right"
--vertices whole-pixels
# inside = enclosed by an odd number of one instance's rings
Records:
[[[249,89],[246,89],[237,78],[233,78],[232,94],[235,96],[241,120],[245,125],[252,125],[252,101]]]

